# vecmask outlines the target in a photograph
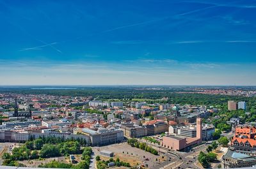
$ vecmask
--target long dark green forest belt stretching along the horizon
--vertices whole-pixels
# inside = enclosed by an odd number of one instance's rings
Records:
[[[196,94],[196,93],[178,93],[184,92],[195,92],[193,87],[191,90],[188,87],[163,87],[161,92],[159,90],[149,90],[145,87],[77,87],[77,89],[31,89],[29,87],[19,88],[4,88],[0,89],[1,92],[14,92],[20,94],[50,94],[56,96],[92,96],[98,99],[118,99],[123,101],[131,101],[132,99],[145,99],[148,101],[161,99],[164,96],[168,97],[167,101],[158,100],[159,103],[177,103],[180,105],[191,104],[191,105],[226,105],[228,100],[234,101],[246,101],[248,110],[250,112],[256,112],[256,100],[255,98],[248,98],[244,96],[225,96],[225,95],[212,95],[212,94]],[[138,90],[140,88],[140,90]],[[205,87],[205,89],[210,87]],[[224,88],[224,87],[223,87]],[[253,88],[255,89],[255,88]],[[250,89],[250,90],[253,90]],[[243,89],[245,90],[245,89]],[[149,102],[150,103],[150,102]],[[254,105],[254,107],[253,107]],[[254,110],[254,111],[252,111]]]

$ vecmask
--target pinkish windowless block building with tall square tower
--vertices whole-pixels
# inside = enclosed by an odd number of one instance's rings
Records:
[[[202,142],[202,119],[196,119],[196,137],[186,138],[181,135],[163,136],[162,145],[175,151],[187,151],[191,146]]]

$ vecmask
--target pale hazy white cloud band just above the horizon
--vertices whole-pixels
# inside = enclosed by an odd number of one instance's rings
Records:
[[[255,64],[178,62],[172,59],[138,59],[132,64],[9,61],[8,64],[0,62],[0,85],[255,85],[255,68]]]

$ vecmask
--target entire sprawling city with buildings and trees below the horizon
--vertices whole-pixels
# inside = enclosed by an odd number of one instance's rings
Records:
[[[214,95],[198,94],[197,88],[1,87],[1,163],[43,168],[256,165],[255,88],[218,87],[222,94]],[[200,91],[212,91],[208,88]]]

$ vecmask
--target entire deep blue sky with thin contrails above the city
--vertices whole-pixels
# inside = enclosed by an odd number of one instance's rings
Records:
[[[0,85],[256,85],[256,1],[0,0]]]

